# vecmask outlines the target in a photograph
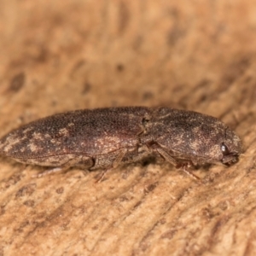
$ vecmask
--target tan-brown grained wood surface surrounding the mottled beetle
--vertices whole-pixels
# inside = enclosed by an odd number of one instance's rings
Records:
[[[255,255],[256,4],[0,1],[0,135],[77,108],[168,106],[242,137],[235,166],[41,178],[0,159],[0,255]]]

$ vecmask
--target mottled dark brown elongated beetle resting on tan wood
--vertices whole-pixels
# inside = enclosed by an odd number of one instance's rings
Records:
[[[157,154],[188,171],[195,164],[235,163],[241,139],[223,122],[202,113],[96,108],[58,113],[23,125],[0,140],[0,154],[26,164],[105,171]]]

